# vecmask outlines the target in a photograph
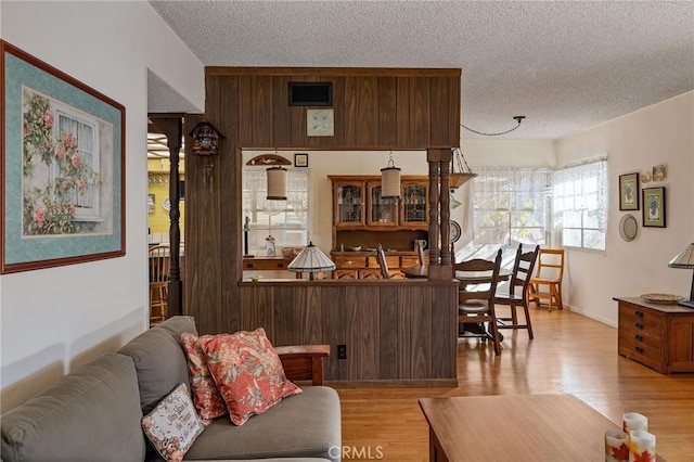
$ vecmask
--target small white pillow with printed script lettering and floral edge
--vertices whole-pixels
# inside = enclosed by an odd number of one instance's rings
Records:
[[[180,462],[205,426],[195,412],[185,384],[179,384],[142,418],[142,428],[159,454]]]

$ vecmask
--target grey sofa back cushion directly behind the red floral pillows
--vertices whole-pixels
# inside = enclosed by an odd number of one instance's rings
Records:
[[[134,337],[118,351],[131,357],[138,371],[140,406],[150,412],[180,383],[190,389],[181,334],[197,334],[191,317],[174,317]]]

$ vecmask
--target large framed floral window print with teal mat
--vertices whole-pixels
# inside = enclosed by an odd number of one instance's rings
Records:
[[[126,253],[125,106],[0,40],[0,272]]]

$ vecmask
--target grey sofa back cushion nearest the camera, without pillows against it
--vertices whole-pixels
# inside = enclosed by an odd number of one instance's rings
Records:
[[[143,460],[138,396],[132,359],[102,355],[2,415],[2,459]]]

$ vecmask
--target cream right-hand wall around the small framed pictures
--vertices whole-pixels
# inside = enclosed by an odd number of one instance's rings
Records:
[[[694,242],[694,92],[642,108],[557,141],[557,165],[607,154],[609,216],[606,252],[569,251],[565,298],[573,309],[617,324],[615,296],[665,292],[689,296],[692,271],[670,269],[668,261]],[[667,166],[665,181],[641,187],[666,188],[667,228],[642,228],[642,213],[631,242],[619,235],[618,177]],[[643,209],[643,206],[641,207]]]

